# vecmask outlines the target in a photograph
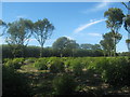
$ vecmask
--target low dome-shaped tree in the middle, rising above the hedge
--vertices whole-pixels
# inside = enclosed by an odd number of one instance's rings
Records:
[[[61,57],[65,51],[72,52],[74,56],[74,50],[79,47],[79,44],[74,40],[69,40],[66,37],[58,38],[52,45],[53,50],[57,50],[61,53]]]

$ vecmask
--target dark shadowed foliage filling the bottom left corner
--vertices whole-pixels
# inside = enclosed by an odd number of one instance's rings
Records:
[[[29,97],[29,80],[24,73],[17,72],[12,67],[2,66],[2,96]]]

